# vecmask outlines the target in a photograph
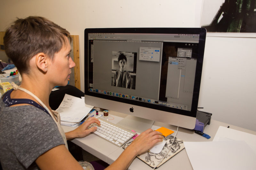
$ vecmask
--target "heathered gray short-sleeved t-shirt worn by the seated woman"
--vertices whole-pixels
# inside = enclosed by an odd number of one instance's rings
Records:
[[[5,107],[0,100],[0,161],[3,169],[39,169],[35,160],[64,144],[52,117],[34,106]]]

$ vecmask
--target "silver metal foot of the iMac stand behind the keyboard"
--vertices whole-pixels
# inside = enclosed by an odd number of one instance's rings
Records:
[[[126,129],[134,130],[141,133],[149,128],[152,128],[154,122],[155,121],[128,115],[116,124]]]

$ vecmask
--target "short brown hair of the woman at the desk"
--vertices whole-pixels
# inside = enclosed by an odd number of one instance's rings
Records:
[[[50,59],[59,52],[66,42],[72,41],[70,33],[52,21],[37,16],[17,18],[7,28],[4,35],[6,55],[12,60],[20,73],[29,71],[29,60],[43,52]]]

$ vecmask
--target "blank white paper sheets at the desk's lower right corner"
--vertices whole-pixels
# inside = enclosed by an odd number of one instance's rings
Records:
[[[194,170],[256,168],[256,135],[220,126],[212,142],[184,145]]]

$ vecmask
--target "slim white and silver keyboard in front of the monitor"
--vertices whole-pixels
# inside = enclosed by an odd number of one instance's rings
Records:
[[[101,126],[97,125],[96,123],[93,123],[90,126],[88,126],[88,129],[96,126],[97,130],[92,133],[118,147],[121,147],[123,144],[129,141],[134,135],[136,135],[135,132],[118,126],[115,123],[106,121],[101,118],[98,119],[100,120]]]

